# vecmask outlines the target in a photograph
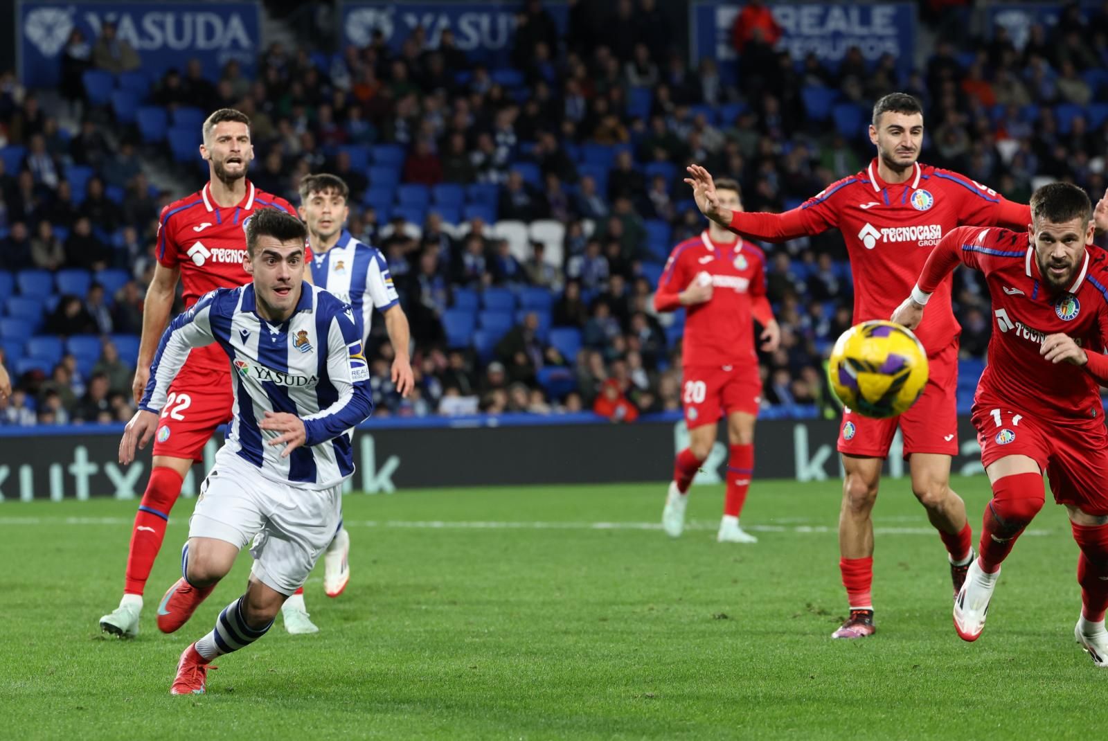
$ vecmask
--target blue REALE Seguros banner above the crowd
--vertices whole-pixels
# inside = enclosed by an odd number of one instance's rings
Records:
[[[702,0],[690,6],[694,62],[706,56],[724,62],[736,59],[731,27],[739,10],[731,0]],[[777,48],[787,49],[796,62],[812,52],[834,66],[851,47],[858,47],[871,62],[892,54],[902,74],[915,64],[916,18],[915,6],[910,3],[770,3],[770,10],[782,31]],[[720,65],[721,74],[733,76],[733,64]]]

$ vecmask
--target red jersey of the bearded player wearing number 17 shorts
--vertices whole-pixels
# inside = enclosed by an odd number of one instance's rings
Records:
[[[1003,401],[1039,421],[1099,418],[1100,390],[1092,375],[1068,362],[1044,360],[1039,348],[1047,335],[1061,332],[1089,353],[1104,351],[1108,340],[1104,253],[1087,250],[1068,288],[1051,292],[1026,231],[962,227],[943,238],[920,288],[929,291],[934,275],[957,260],[985,274],[996,320],[976,399]],[[929,301],[924,316],[931,309]]]

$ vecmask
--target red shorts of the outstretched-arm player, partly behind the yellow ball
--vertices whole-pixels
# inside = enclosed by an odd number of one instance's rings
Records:
[[[912,408],[900,416],[875,420],[844,409],[839,452],[861,457],[885,457],[900,425],[904,457],[912,453],[958,453],[958,342],[927,359],[927,385]]]

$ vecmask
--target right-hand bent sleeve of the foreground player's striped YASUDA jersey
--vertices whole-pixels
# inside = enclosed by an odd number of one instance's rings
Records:
[[[373,411],[369,366],[349,305],[335,315],[327,332],[327,377],[339,398],[327,409],[304,418],[307,445],[318,445],[345,434]]]

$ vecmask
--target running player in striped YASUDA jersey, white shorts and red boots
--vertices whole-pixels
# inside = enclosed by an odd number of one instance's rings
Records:
[[[181,655],[172,694],[203,693],[212,659],[266,634],[339,525],[342,482],[353,473],[346,431],[369,416],[372,395],[350,306],[304,280],[306,236],[298,218],[275,209],[250,219],[253,282],[206,294],[173,320],[120,442],[120,462],[130,463],[193,348],[215,347],[234,368],[230,432],[201,486],[184,576],[162,600],[158,627],[184,625],[252,538],[254,568],[246,593]]]

